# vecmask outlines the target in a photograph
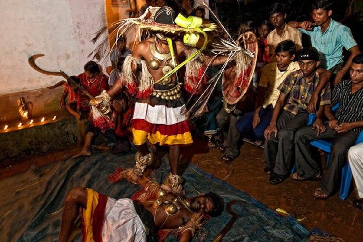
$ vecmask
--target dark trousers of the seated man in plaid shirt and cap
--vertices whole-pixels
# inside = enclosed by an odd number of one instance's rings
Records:
[[[286,175],[290,172],[291,153],[294,145],[294,134],[299,128],[307,125],[309,113],[299,110],[296,115],[284,110],[277,120],[277,138],[272,133],[265,141],[265,166],[274,168],[274,172]]]

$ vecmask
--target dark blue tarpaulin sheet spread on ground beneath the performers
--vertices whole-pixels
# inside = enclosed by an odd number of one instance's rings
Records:
[[[65,159],[2,180],[0,241],[57,241],[61,209],[69,191],[75,186],[82,186],[113,198],[131,197],[140,189],[138,185],[126,181],[112,184],[108,181],[108,176],[118,167],[133,165],[133,152],[126,155],[95,152],[89,157]],[[169,165],[162,161],[160,168],[151,176],[162,182],[168,173]],[[239,218],[223,241],[303,241],[308,237],[309,232],[294,218],[276,214],[249,194],[233,188],[193,164],[188,165],[183,177],[186,180],[184,188],[187,196],[196,196],[197,192],[215,192],[223,198],[225,204],[231,200],[244,201],[233,206]],[[28,185],[32,186],[22,189]],[[230,219],[231,215],[227,211],[219,217],[211,218],[203,227],[206,235],[204,240],[213,241]],[[167,241],[175,239],[171,237]],[[81,241],[81,234],[75,240]]]

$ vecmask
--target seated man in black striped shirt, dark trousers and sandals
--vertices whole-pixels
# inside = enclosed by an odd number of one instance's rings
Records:
[[[322,123],[321,117],[318,117],[313,128],[304,127],[295,133],[297,172],[291,178],[301,181],[321,177],[320,186],[313,194],[318,199],[328,198],[334,193],[348,149],[355,144],[359,132],[363,130],[363,53],[353,58],[350,78],[334,87],[331,105],[339,103],[337,112],[333,114],[331,106],[326,105],[326,123]],[[318,139],[333,139],[329,166],[323,176],[310,151],[310,141]]]

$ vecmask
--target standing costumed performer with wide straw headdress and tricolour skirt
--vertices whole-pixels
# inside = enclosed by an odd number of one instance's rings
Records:
[[[117,29],[114,31],[111,29],[110,32],[123,34],[125,29],[135,24],[139,26],[140,42],[133,48],[132,55],[126,57],[121,78],[107,93],[104,92],[97,97],[98,105],[107,105],[110,98],[123,86],[136,95],[132,119],[134,144],[138,150],[135,156],[136,166],[133,169],[120,169],[117,172],[118,176],[114,176],[114,181],[127,179],[135,183],[147,165],[152,164],[153,155],[148,150],[148,141],[151,144],[170,147],[171,173],[164,182],[163,189],[180,193],[183,190],[181,186],[183,178],[178,174],[179,147],[193,142],[181,87],[184,85],[184,89],[192,95],[201,93],[201,98],[211,95],[218,76],[212,78],[215,81],[209,82],[207,88],[203,89],[206,83],[206,67],[221,64],[225,67],[232,57],[241,53],[241,48],[233,40],[228,42],[223,39],[226,44],[220,44],[222,38],[217,39],[215,36],[213,41],[208,42],[206,32],[213,31],[213,34],[217,34],[217,31],[214,31],[217,28],[216,24],[203,24],[203,20],[197,17],[185,18],[183,15],[176,17],[175,12],[168,6],[150,7],[138,19],[121,20]],[[144,33],[142,30],[148,32]],[[184,39],[180,41],[177,37],[183,32]],[[145,35],[150,37],[142,40]],[[201,54],[207,43],[217,49],[211,51],[215,56],[207,57]],[[231,48],[233,53],[228,52]],[[218,56],[219,54],[222,55]],[[235,60],[237,63],[237,59]],[[176,73],[183,65],[185,65],[184,83]],[[221,74],[220,70],[219,77]],[[206,105],[208,98],[203,100],[198,103]],[[203,105],[199,110],[203,110],[205,107]]]

